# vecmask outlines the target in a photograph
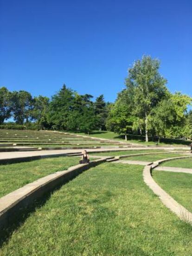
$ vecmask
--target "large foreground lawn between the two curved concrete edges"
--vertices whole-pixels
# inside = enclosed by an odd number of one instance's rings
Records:
[[[144,184],[142,166],[105,163],[51,195],[1,256],[190,256],[192,226]]]

